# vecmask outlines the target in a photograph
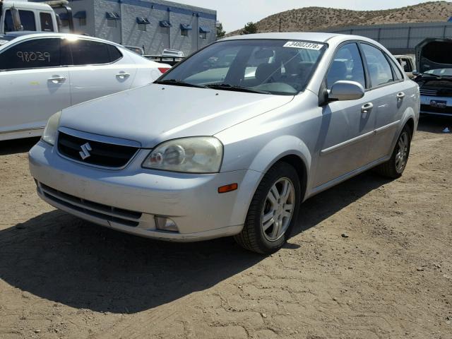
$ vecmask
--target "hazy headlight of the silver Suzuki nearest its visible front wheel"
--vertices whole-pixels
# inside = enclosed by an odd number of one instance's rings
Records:
[[[220,171],[223,145],[213,136],[195,136],[166,141],[144,160],[143,167],[172,172],[215,173]]]

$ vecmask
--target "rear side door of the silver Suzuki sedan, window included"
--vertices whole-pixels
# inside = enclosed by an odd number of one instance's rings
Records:
[[[385,52],[367,43],[362,43],[361,48],[369,72],[369,92],[379,97],[373,112],[376,133],[369,150],[371,162],[391,153],[400,119],[408,107],[408,88],[400,69],[395,69],[396,64]]]

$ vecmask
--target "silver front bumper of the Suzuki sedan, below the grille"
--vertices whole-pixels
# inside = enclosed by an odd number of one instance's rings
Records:
[[[68,213],[143,237],[177,242],[239,233],[261,173],[239,170],[218,174],[181,174],[141,168],[141,150],[125,169],[82,165],[61,157],[40,141],[30,150],[30,172],[37,193]],[[239,189],[218,194],[218,187]],[[179,232],[157,230],[155,216],[176,222]]]

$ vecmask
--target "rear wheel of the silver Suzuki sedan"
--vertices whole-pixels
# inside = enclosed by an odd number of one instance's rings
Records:
[[[375,172],[383,177],[391,179],[399,178],[405,170],[408,157],[410,156],[411,138],[412,131],[410,126],[405,125],[397,138],[391,158],[375,167]]]

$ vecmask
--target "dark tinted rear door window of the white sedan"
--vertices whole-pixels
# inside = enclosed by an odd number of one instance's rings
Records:
[[[103,42],[76,40],[70,45],[73,64],[77,66],[109,64],[122,57],[116,47]]]

